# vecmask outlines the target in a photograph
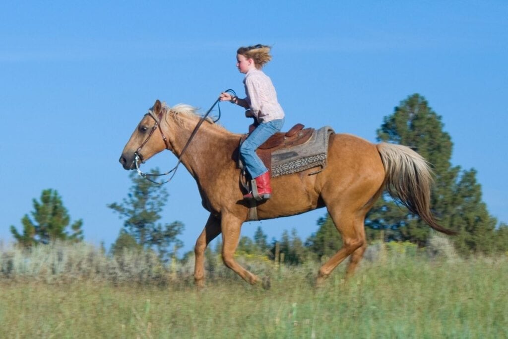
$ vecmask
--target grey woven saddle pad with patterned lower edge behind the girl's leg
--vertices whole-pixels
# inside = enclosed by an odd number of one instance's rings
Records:
[[[304,144],[272,152],[272,178],[293,174],[309,168],[325,168],[328,153],[328,139],[335,132],[330,126],[314,131]]]

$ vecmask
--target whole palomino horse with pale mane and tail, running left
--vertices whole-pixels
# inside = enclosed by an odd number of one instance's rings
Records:
[[[204,285],[204,252],[220,233],[226,266],[246,282],[256,284],[260,282],[258,276],[243,268],[234,257],[240,228],[248,214],[236,163],[240,135],[209,120],[194,135],[199,121],[194,108],[186,105],[170,108],[157,100],[125,145],[120,163],[124,169],[133,170],[137,166],[136,157],[144,162],[158,152],[171,150],[196,179],[203,207],[210,212],[195,246],[196,284]],[[192,141],[188,143],[189,138]],[[343,246],[321,266],[317,275],[319,284],[350,255],[347,274],[353,273],[367,247],[365,214],[385,188],[433,229],[454,234],[439,226],[430,212],[431,181],[427,162],[409,147],[372,144],[353,135],[334,134],[329,140],[325,169],[317,174],[314,168],[273,178],[273,196],[258,205],[258,218],[285,217],[327,207],[342,235]]]

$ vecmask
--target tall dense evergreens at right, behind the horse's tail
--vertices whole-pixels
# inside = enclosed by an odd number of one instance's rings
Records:
[[[462,251],[488,252],[489,240],[496,224],[481,200],[481,186],[474,170],[461,172],[452,166],[452,141],[444,132],[441,117],[418,94],[409,96],[384,118],[377,131],[379,141],[400,143],[415,149],[432,166],[435,184],[431,192],[431,208],[439,223],[461,231],[454,239]],[[430,228],[417,216],[398,206],[384,195],[367,214],[366,225],[387,229],[393,239],[408,240],[419,246],[426,244]]]

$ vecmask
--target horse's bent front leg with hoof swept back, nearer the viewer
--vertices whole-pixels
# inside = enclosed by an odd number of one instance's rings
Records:
[[[238,219],[233,214],[225,214],[222,216],[220,223],[223,233],[222,257],[226,266],[234,270],[247,283],[254,285],[261,282],[258,276],[247,271],[235,260],[235,251],[238,246],[238,239],[240,238],[242,222],[242,220]]]

